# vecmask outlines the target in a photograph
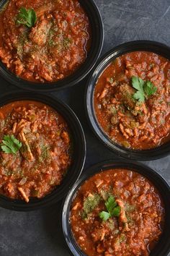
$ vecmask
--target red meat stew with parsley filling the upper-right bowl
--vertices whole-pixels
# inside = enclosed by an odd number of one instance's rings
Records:
[[[126,148],[156,148],[170,140],[170,61],[137,51],[112,61],[99,77],[94,108],[100,126]]]

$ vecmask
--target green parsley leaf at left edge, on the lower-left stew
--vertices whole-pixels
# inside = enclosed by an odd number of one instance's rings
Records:
[[[19,148],[22,147],[22,142],[19,142],[14,135],[4,135],[2,143],[1,143],[1,150],[7,154],[16,154]]]

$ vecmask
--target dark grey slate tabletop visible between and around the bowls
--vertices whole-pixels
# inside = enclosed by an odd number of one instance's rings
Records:
[[[102,54],[129,40],[157,40],[170,46],[169,0],[95,1],[104,21],[105,39]],[[98,161],[117,157],[104,148],[89,129],[82,105],[85,85],[86,80],[54,95],[68,103],[81,120],[87,140],[87,167]],[[9,90],[14,90],[14,87],[1,79],[0,92]],[[158,171],[170,184],[170,156],[146,164]],[[0,208],[0,255],[70,255],[61,230],[60,212],[61,202],[31,213],[17,213]]]

